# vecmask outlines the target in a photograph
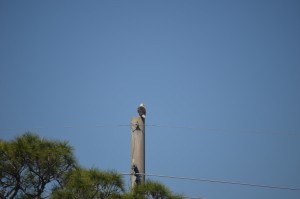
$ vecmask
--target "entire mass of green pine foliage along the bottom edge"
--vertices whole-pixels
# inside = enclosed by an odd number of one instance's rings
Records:
[[[51,190],[52,186],[52,190]],[[52,192],[51,192],[52,191]],[[47,193],[47,194],[46,194]],[[0,140],[0,199],[181,199],[159,182],[125,193],[116,172],[82,169],[67,142],[26,133]]]

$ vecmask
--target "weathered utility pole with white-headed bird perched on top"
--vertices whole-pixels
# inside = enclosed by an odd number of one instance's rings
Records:
[[[139,117],[131,120],[131,188],[145,182],[145,117],[144,104],[138,107]]]

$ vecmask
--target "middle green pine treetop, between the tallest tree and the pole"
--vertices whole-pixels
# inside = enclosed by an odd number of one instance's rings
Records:
[[[51,199],[114,199],[124,192],[122,176],[115,172],[77,168],[69,172]]]

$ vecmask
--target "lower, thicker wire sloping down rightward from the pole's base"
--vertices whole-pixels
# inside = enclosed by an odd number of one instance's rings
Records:
[[[131,173],[120,173],[120,174],[121,175],[133,175]],[[292,188],[292,187],[282,187],[282,186],[272,186],[272,185],[262,185],[262,184],[251,184],[251,183],[244,183],[244,182],[224,181],[224,180],[210,180],[210,179],[203,179],[203,178],[178,177],[178,176],[159,175],[159,174],[144,174],[144,173],[137,173],[137,174],[138,175],[145,175],[145,176],[152,176],[152,177],[160,177],[160,178],[178,179],[178,180],[191,180],[191,181],[198,181],[198,182],[231,184],[231,185],[241,185],[241,186],[258,187],[258,188],[269,188],[269,189],[279,189],[279,190],[288,190],[288,191],[300,191],[300,188]]]

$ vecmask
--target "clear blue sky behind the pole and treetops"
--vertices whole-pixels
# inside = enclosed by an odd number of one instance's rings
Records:
[[[297,0],[2,0],[0,138],[68,140],[82,166],[130,172],[119,125],[143,102],[161,125],[146,128],[146,172],[300,188],[299,21]],[[300,198],[159,180],[193,197]]]

